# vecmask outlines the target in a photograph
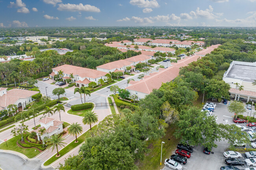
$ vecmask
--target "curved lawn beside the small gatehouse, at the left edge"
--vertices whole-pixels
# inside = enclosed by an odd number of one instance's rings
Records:
[[[23,155],[26,155],[28,158],[33,158],[36,155],[40,154],[39,150],[37,150],[35,148],[20,148],[19,146],[17,146],[16,143],[19,139],[21,139],[20,135],[17,135],[16,137],[13,137],[13,138],[9,139],[7,141],[8,147],[6,146],[5,142],[1,143],[0,144],[0,149],[13,150],[13,151],[19,152]]]

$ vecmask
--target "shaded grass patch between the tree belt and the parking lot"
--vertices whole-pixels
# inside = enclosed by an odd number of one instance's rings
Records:
[[[163,169],[163,163],[165,159],[169,158],[172,155],[173,151],[176,149],[176,146],[180,141],[173,136],[175,130],[175,125],[170,125],[168,128],[166,128],[165,136],[163,136],[161,139],[158,139],[156,141],[148,141],[148,147],[150,148],[151,152],[146,154],[146,157],[143,161],[139,161],[137,163],[139,170]],[[165,142],[165,144],[163,144],[162,165],[160,165],[162,141]]]

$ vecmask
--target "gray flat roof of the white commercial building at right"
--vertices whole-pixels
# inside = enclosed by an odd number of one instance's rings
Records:
[[[256,66],[233,64],[226,77],[254,82],[256,80]]]

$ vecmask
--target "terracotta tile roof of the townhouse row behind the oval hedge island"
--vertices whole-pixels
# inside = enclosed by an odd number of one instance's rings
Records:
[[[102,77],[102,76],[106,75],[106,73],[103,71],[98,71],[96,69],[89,69],[89,68],[83,68],[83,67],[78,67],[78,66],[71,66],[68,64],[64,64],[62,66],[52,68],[52,69],[55,71],[61,70],[66,74],[73,73],[73,75],[78,75],[82,78],[90,77],[90,78],[95,79],[95,78]]]

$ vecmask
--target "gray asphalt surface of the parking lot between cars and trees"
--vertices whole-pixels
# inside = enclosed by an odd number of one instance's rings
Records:
[[[228,109],[227,109],[229,101],[226,105],[223,103],[215,103],[215,104],[216,104],[216,107],[212,115],[217,116],[216,122],[222,123],[222,124],[235,124],[233,122],[234,114],[228,112]],[[250,111],[248,112],[250,114]],[[243,123],[241,124],[239,123],[239,125],[246,126],[246,124],[243,124]],[[191,157],[187,159],[187,164],[182,165],[183,170],[219,170],[221,166],[226,166],[224,162],[226,157],[223,156],[223,152],[226,148],[229,147],[229,143],[227,143],[227,141],[216,141],[215,143],[218,145],[218,147],[213,148],[211,150],[210,155],[204,154],[203,146],[193,147],[194,151],[191,153]],[[250,144],[246,146],[246,148],[250,148],[250,147],[251,147]],[[175,151],[173,154],[175,154]],[[170,157],[171,155],[169,155],[168,159]],[[165,160],[167,159],[167,157],[163,157],[163,159]],[[247,159],[245,157],[245,154],[242,154],[241,160],[245,160],[245,159]],[[236,167],[243,170],[248,166],[245,163],[245,166],[236,166]],[[163,170],[173,170],[173,169],[170,167],[164,166]]]

